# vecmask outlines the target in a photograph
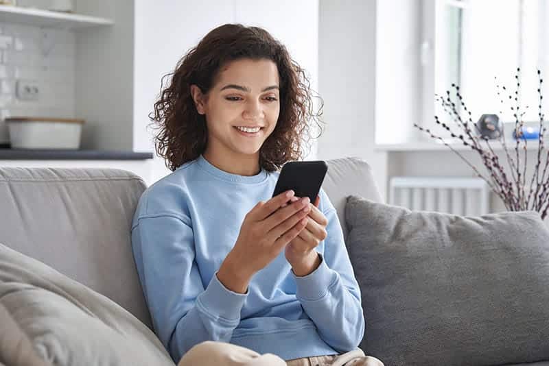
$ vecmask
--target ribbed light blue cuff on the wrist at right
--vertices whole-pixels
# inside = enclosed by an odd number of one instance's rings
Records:
[[[337,273],[328,268],[322,254],[320,256],[320,265],[307,276],[298,277],[294,274],[296,280],[296,297],[299,300],[316,301],[325,297],[328,289],[336,282]],[[293,273],[293,271],[292,271]]]

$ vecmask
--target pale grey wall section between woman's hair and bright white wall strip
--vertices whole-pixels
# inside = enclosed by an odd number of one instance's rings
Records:
[[[376,1],[320,0],[318,38],[318,85],[327,123],[318,158],[363,158],[386,197],[386,154],[374,151]]]

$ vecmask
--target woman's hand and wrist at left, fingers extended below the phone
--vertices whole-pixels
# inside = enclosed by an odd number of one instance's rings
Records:
[[[309,198],[295,201],[293,191],[257,203],[244,217],[235,246],[218,271],[218,280],[231,291],[246,293],[252,276],[305,228],[309,210]]]

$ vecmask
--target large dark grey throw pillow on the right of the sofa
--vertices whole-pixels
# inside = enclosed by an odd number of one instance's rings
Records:
[[[360,347],[385,365],[549,360],[549,230],[537,212],[460,217],[348,197]]]

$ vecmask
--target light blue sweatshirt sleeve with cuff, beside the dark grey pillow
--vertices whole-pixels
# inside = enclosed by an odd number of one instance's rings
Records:
[[[322,196],[321,196],[322,197]],[[334,206],[323,194],[328,219],[324,255],[316,270],[297,277],[296,296],[314,321],[320,337],[338,352],[348,352],[364,337],[360,287],[345,247]]]

